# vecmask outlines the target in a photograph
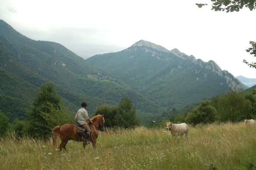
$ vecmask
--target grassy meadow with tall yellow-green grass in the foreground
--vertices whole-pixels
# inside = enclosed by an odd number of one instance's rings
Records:
[[[242,123],[189,127],[188,140],[165,127],[106,129],[96,149],[69,141],[0,139],[0,170],[256,170],[256,126]]]

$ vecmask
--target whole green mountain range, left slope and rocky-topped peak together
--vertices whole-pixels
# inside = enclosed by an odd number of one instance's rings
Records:
[[[244,85],[214,61],[207,63],[147,41],[87,60],[64,46],[34,41],[0,20],[0,111],[24,119],[36,90],[53,82],[74,112],[82,101],[89,114],[127,95],[139,117],[180,108]],[[145,122],[145,120],[142,120]]]

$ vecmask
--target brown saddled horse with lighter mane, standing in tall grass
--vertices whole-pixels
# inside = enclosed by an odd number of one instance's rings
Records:
[[[98,129],[103,128],[103,123],[105,122],[103,114],[100,115],[98,114],[97,116],[94,116],[91,118],[91,121],[93,122],[92,124],[88,124],[91,127],[92,130],[92,135],[89,137],[89,141],[92,143],[93,148],[96,147],[96,140],[98,137]],[[66,150],[66,144],[68,143],[69,140],[75,140],[75,141],[84,141],[84,136],[80,136],[77,134],[77,129],[76,126],[73,124],[63,124],[60,126],[55,126],[52,129],[52,140],[53,140],[53,145],[57,148],[58,144],[58,136],[60,136],[61,139],[61,144],[59,146],[60,151],[62,148]],[[83,143],[83,148],[86,147],[86,144]]]

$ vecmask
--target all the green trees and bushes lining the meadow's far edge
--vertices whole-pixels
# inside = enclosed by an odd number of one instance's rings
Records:
[[[42,84],[32,103],[26,111],[25,120],[15,119],[10,123],[7,115],[0,112],[0,136],[5,136],[11,130],[19,136],[48,139],[54,126],[75,123],[75,112],[70,112],[63,105],[53,83]],[[143,121],[150,122],[148,127],[161,127],[168,121],[186,122],[192,126],[212,122],[241,122],[256,118],[256,86],[246,91],[227,91],[182,109],[173,108],[155,115],[145,115],[143,118],[138,118],[132,100],[125,96],[117,105],[97,106],[93,116],[97,114],[104,114],[105,127],[108,128],[134,128],[142,125]]]

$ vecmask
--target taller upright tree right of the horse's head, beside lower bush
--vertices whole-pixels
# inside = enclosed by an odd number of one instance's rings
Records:
[[[128,128],[139,125],[139,118],[136,116],[135,106],[132,104],[132,99],[127,96],[123,97],[118,103],[118,120],[123,127]]]

